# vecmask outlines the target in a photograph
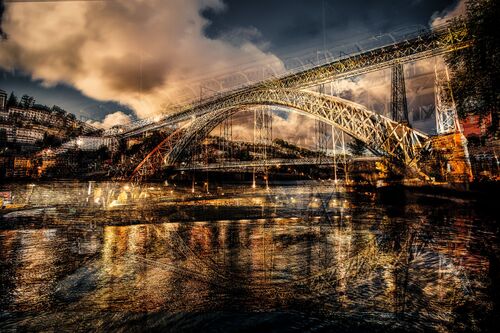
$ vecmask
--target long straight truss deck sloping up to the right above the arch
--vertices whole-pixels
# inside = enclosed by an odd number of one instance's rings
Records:
[[[468,33],[465,21],[456,20],[451,24],[423,31],[420,35],[408,38],[402,42],[385,47],[358,53],[352,56],[332,61],[300,72],[284,74],[281,77],[273,76],[259,83],[248,84],[232,91],[216,93],[200,103],[186,104],[175,113],[163,117],[160,121],[144,126],[134,126],[129,131],[118,133],[121,137],[140,134],[145,131],[154,131],[165,126],[189,120],[193,115],[200,115],[199,110],[207,109],[220,99],[252,90],[282,89],[282,88],[307,88],[344,79],[359,74],[364,74],[396,64],[404,64],[419,59],[429,58],[469,47],[472,38]]]

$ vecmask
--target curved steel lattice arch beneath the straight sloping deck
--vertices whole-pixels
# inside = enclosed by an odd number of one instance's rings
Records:
[[[230,115],[257,106],[276,106],[317,118],[363,141],[376,155],[415,166],[427,135],[345,99],[308,90],[260,88],[199,106],[196,117],[163,140],[137,166],[132,179],[174,165],[190,144],[199,142]]]

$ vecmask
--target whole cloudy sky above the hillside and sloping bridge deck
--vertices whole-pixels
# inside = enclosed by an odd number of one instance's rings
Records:
[[[364,47],[374,36],[383,41],[388,33],[440,22],[460,6],[458,0],[0,0],[0,33],[7,36],[0,42],[0,89],[111,126],[172,112],[199,96],[200,82],[211,77],[264,67],[280,73],[296,55],[350,52],[356,42]],[[202,95],[217,89],[205,87]]]

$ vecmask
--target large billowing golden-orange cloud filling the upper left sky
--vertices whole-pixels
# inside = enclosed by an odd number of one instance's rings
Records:
[[[21,69],[45,85],[64,82],[138,117],[199,94],[205,77],[281,61],[256,44],[256,30],[207,38],[205,10],[221,0],[128,0],[8,3],[0,67]]]

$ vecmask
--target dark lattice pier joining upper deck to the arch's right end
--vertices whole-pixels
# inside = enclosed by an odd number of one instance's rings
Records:
[[[402,63],[397,63],[391,69],[391,113],[392,120],[409,124],[408,102],[406,101],[406,85]]]

